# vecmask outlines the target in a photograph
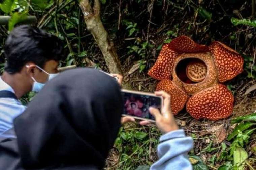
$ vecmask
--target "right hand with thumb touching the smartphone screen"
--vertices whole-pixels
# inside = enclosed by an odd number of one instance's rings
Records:
[[[162,114],[156,108],[149,108],[149,112],[155,117],[158,129],[164,134],[173,130],[178,130],[179,127],[171,112],[171,96],[164,91],[156,91],[155,94],[163,97]]]

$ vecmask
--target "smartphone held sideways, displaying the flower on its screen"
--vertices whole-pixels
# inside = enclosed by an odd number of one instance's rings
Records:
[[[131,116],[140,120],[155,122],[154,116],[149,113],[149,107],[162,109],[163,99],[153,93],[122,89],[124,101],[123,116]]]

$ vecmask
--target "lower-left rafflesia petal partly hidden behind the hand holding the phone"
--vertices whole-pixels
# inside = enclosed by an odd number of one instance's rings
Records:
[[[165,79],[157,84],[156,90],[163,90],[171,95],[171,110],[174,115],[178,114],[188,99],[188,95],[176,86],[171,80]]]

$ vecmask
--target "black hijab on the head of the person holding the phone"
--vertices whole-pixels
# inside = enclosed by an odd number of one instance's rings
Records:
[[[61,73],[14,120],[21,167],[102,169],[121,113],[115,79],[93,69]]]

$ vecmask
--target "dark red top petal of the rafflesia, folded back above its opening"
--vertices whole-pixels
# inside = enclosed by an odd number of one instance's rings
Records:
[[[193,53],[209,51],[207,46],[195,43],[187,36],[180,36],[169,43],[169,48],[177,53]]]

